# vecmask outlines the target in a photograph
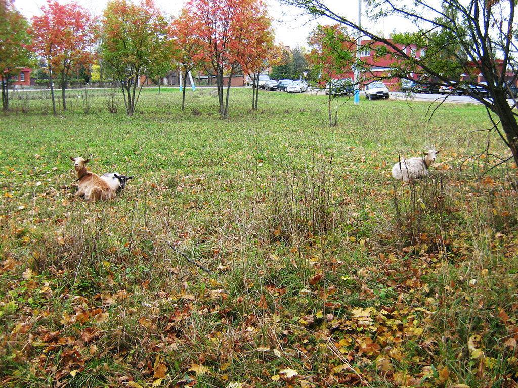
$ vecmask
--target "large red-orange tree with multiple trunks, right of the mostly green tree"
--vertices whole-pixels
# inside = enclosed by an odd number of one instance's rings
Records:
[[[191,17],[192,34],[199,47],[196,60],[216,79],[220,117],[227,117],[232,76],[243,67],[270,28],[266,7],[260,0],[190,0],[185,13]],[[226,96],[223,79],[228,78]]]

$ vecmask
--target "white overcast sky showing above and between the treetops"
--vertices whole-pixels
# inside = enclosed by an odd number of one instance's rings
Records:
[[[307,47],[307,37],[316,24],[334,24],[329,19],[318,21],[309,20],[308,17],[301,17],[301,10],[295,7],[280,5],[278,0],[264,0],[268,4],[268,11],[273,20],[276,31],[276,42],[283,43],[291,48]],[[60,1],[67,3],[66,0]],[[15,0],[15,7],[28,19],[40,14],[41,6],[47,3],[46,0]],[[94,15],[100,16],[106,7],[107,0],[80,0],[78,4],[89,9]],[[184,2],[181,0],[155,0],[155,5],[162,9],[165,15],[177,16]],[[357,20],[357,0],[328,0],[329,8],[341,16],[346,16],[354,21]],[[365,19],[365,18],[364,18]],[[367,21],[362,20],[362,25]],[[395,23],[396,24],[396,23]],[[388,22],[376,26],[376,31],[390,33],[393,26]]]

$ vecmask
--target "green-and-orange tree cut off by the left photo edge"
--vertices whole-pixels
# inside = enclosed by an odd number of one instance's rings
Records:
[[[2,107],[9,109],[8,80],[17,68],[32,65],[31,36],[27,34],[27,20],[13,8],[12,3],[0,0],[0,81]]]

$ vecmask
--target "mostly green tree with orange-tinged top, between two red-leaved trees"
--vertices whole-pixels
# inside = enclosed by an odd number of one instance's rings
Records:
[[[132,116],[144,84],[140,77],[155,77],[171,64],[168,22],[153,0],[139,5],[112,0],[104,11],[102,49],[105,69],[120,82],[126,112]]]

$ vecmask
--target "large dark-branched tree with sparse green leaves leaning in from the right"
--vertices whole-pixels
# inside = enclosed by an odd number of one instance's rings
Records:
[[[282,0],[304,9],[315,17],[325,16],[361,33],[376,46],[377,55],[390,55],[390,77],[433,79],[435,84],[447,82],[454,87],[473,85],[484,88],[489,97],[469,93],[487,109],[493,127],[509,147],[518,166],[518,111],[507,101],[507,82],[516,82],[516,38],[518,24],[514,20],[518,7],[515,0],[441,0],[440,6],[430,1],[370,0],[367,14],[379,21],[400,17],[411,21],[413,32],[396,33],[386,39],[379,33],[359,26],[341,16],[321,0]],[[374,25],[379,25],[375,23]],[[419,57],[407,48],[425,49]],[[508,70],[511,73],[509,76]],[[467,80],[459,80],[466,74]],[[480,76],[487,84],[477,82]],[[464,87],[469,90],[469,88]]]

